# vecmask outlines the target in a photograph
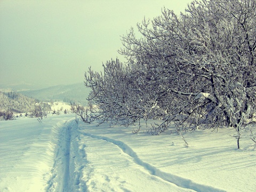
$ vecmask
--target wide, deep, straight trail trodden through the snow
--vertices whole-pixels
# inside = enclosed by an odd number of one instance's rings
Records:
[[[79,146],[79,134],[74,119],[59,127],[58,144],[55,148],[52,178],[48,181],[47,192],[87,191],[83,175],[86,164],[85,145]]]

